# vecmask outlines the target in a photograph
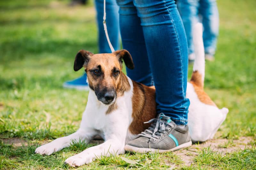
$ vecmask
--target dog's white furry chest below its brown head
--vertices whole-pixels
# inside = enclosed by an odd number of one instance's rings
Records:
[[[124,92],[123,96],[116,99],[116,107],[110,113],[107,113],[109,106],[100,103],[93,91],[89,92],[86,109],[83,113],[81,128],[92,128],[102,136],[107,133],[115,133],[124,129],[124,135],[132,122],[132,81],[128,78],[131,89]],[[131,134],[127,134],[132,138]]]

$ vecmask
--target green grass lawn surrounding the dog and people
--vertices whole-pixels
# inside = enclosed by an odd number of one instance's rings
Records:
[[[74,72],[80,49],[98,52],[93,2],[68,7],[69,1],[0,2],[0,138],[20,138],[28,145],[0,143],[0,169],[67,169],[68,157],[91,146],[78,142],[51,156],[34,154],[43,141],[77,130],[88,92],[63,89]],[[251,136],[252,148],[225,155],[204,148],[191,166],[175,153],[101,157],[81,169],[256,169],[256,1],[218,1],[220,35],[216,60],[206,62],[205,90],[229,113],[218,134],[229,142]],[[192,66],[189,66],[191,74]],[[127,163],[124,158],[137,162]]]

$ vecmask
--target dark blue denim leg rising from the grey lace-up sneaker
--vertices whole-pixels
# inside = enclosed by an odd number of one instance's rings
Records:
[[[156,87],[157,113],[187,124],[188,46],[174,0],[134,0]]]

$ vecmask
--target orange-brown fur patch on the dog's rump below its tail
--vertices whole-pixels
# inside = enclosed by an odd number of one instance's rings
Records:
[[[212,99],[204,92],[204,89],[202,87],[199,87],[194,81],[190,81],[190,83],[194,86],[197,97],[202,103],[217,107]]]

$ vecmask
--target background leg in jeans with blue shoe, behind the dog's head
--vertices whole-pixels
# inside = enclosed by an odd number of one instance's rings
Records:
[[[102,23],[103,0],[95,0],[95,7],[97,12],[96,19],[98,26],[99,53],[111,53]],[[119,7],[116,4],[116,0],[106,0],[106,21],[108,28],[108,36],[115,50],[118,50],[120,48],[118,9]],[[86,78],[87,75],[86,73],[84,73],[81,77],[78,77],[77,79],[66,81],[63,84],[63,87],[87,90],[89,89],[89,86],[86,82]]]

